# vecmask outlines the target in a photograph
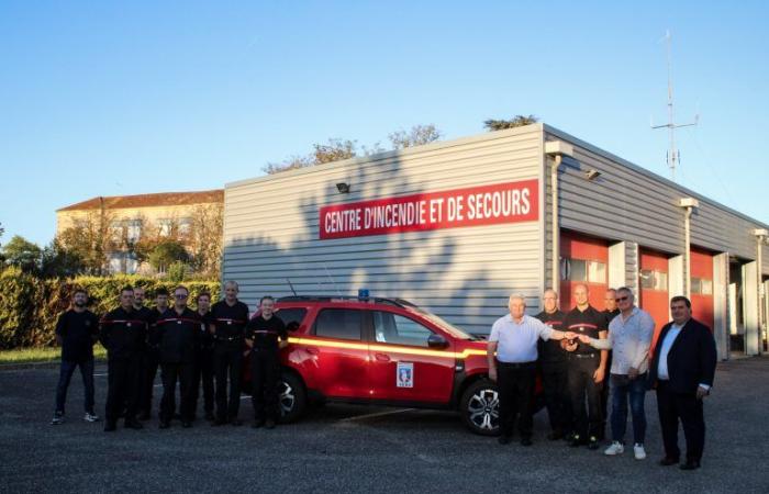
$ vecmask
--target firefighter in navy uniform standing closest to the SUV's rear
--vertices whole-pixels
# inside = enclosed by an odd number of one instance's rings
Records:
[[[280,348],[288,345],[286,325],[274,313],[275,299],[259,301],[260,314],[248,322],[246,345],[250,351],[252,403],[254,425],[268,429],[278,419],[278,383],[280,381]]]

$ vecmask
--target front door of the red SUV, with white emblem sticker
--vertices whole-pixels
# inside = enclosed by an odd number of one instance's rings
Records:
[[[413,316],[371,311],[369,382],[372,400],[448,403],[454,386],[454,345],[438,329]],[[430,348],[441,335],[444,348]]]

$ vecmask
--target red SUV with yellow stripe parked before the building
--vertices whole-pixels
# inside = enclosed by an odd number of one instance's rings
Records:
[[[335,401],[457,409],[473,433],[499,434],[484,340],[401,299],[288,296],[276,308],[289,328],[282,422]]]

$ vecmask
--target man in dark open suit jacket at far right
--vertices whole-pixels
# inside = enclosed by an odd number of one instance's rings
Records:
[[[662,327],[649,369],[649,383],[657,388],[657,407],[662,428],[664,467],[680,460],[678,420],[687,439],[687,461],[681,470],[700,468],[705,445],[702,400],[710,394],[715,374],[715,340],[710,328],[692,319],[686,296],[670,300],[672,322]]]

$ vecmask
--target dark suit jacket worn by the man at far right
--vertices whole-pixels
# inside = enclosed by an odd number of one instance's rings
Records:
[[[649,367],[649,385],[657,385],[657,368],[662,341],[670,330],[672,322],[662,326],[654,349],[654,359]],[[668,377],[670,390],[675,393],[693,394],[700,384],[713,385],[715,375],[715,339],[704,324],[689,319],[676,337],[668,352]]]

